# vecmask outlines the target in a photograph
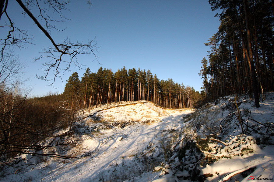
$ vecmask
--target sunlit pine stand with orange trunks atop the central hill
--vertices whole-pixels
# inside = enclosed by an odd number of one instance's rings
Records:
[[[125,67],[115,73],[102,67],[97,72],[90,72],[87,68],[81,81],[78,73],[74,72],[67,80],[63,97],[72,110],[138,100],[148,100],[169,108],[201,105],[200,93],[192,87],[174,83],[170,78],[159,80],[150,70],[127,70]]]

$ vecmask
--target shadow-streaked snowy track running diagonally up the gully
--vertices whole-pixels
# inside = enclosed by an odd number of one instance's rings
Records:
[[[62,170],[62,174],[58,174],[55,177],[58,180],[55,181],[71,181],[75,182],[81,179],[81,181],[98,181],[100,172],[107,170],[110,164],[115,162],[121,163],[121,156],[128,156],[138,152],[137,150],[145,150],[145,147],[155,139],[155,133],[159,133],[162,130],[171,129],[174,126],[178,126],[181,116],[184,114],[171,115],[163,117],[161,122],[153,123],[150,125],[142,125],[140,123],[126,126],[124,129],[107,130],[100,140],[99,145],[103,143],[104,146],[100,146],[100,153],[97,158],[82,160],[81,164],[76,163],[77,169],[74,170],[71,164],[70,170]],[[118,138],[122,135],[127,136],[122,140]],[[111,140],[112,139],[112,140]],[[106,143],[104,141],[107,141]],[[109,145],[109,147],[105,147]],[[107,152],[107,153],[105,153]]]

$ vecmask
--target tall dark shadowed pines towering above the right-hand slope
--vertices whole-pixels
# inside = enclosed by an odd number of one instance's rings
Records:
[[[202,59],[206,100],[229,94],[254,94],[274,89],[274,2],[209,0],[211,9],[221,10],[219,30],[206,43],[209,65]]]

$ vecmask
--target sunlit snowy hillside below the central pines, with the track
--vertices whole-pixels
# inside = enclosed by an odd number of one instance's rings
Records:
[[[153,148],[153,152],[159,151],[156,143],[164,140],[170,130],[181,128],[182,118],[193,111],[161,108],[148,101],[95,108],[84,116],[78,116],[84,119],[76,123],[78,127],[75,129],[75,135],[81,134],[86,139],[77,143],[76,147],[94,150],[92,158],[63,160],[47,157],[42,163],[29,167],[23,176],[14,174],[14,171],[2,180],[122,181],[139,176],[148,169],[144,166],[145,161],[140,163],[135,159]],[[66,131],[58,131],[58,134]],[[54,152],[63,150],[56,148]],[[22,163],[35,161],[36,157],[29,154],[18,156],[27,159]],[[158,158],[157,165],[163,160]]]

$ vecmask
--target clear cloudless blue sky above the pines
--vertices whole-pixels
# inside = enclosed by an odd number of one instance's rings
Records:
[[[216,12],[211,11],[208,1],[93,0],[89,8],[85,0],[72,0],[67,8],[70,12],[64,15],[70,20],[55,23],[57,28],[66,29],[63,32],[52,30],[51,36],[55,42],[67,37],[83,42],[95,38],[99,46],[95,53],[100,57],[100,64],[92,61],[92,55],[79,56],[79,63],[86,65],[84,68],[97,72],[102,66],[115,72],[123,66],[126,69],[139,67],[149,69],[160,80],[172,78],[175,83],[201,90],[202,79],[198,73],[201,60],[209,50],[204,43],[219,26],[219,19],[214,17]],[[30,78],[28,84],[33,87],[31,95],[43,96],[49,90],[62,93],[66,80],[75,71],[81,79],[85,70],[74,67],[72,72],[62,75],[63,83],[60,79],[55,81],[55,88],[35,78],[36,73],[43,74],[39,70],[43,62],[33,62],[32,58],[39,57],[42,48],[50,46],[51,42],[27,15],[20,14],[22,10],[14,0],[9,1],[8,12],[17,27],[34,35],[34,45],[15,52],[27,64],[25,76]]]

